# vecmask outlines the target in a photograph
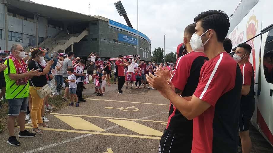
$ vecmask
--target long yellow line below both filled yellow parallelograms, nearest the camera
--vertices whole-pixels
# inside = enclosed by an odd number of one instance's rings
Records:
[[[19,126],[17,128],[20,128]],[[25,128],[32,128],[32,126],[25,126]],[[49,131],[62,131],[62,132],[74,132],[74,133],[90,133],[90,134],[99,134],[99,135],[108,135],[108,136],[125,136],[133,138],[147,138],[147,139],[157,139],[160,140],[161,137],[154,136],[139,136],[139,135],[129,135],[129,134],[117,134],[117,133],[101,133],[101,132],[91,132],[91,131],[76,131],[76,130],[66,130],[66,129],[57,129],[57,128],[40,128],[41,130]]]

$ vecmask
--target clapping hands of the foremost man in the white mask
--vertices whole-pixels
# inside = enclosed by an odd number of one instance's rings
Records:
[[[156,76],[154,76],[152,73],[149,73],[149,75],[146,74],[146,79],[152,87],[158,90],[162,90],[163,88],[169,88],[170,90],[172,90],[162,73],[156,71],[155,75]]]

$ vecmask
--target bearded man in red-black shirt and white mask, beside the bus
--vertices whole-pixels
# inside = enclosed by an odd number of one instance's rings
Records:
[[[237,46],[236,53],[233,55],[233,59],[238,62],[243,76],[239,117],[239,136],[243,153],[250,153],[251,151],[251,139],[248,129],[250,119],[255,110],[254,70],[248,60],[251,50],[252,48],[249,44],[242,43]]]

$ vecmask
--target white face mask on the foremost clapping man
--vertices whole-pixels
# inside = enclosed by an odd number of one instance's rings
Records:
[[[201,36],[203,36],[206,32],[204,32]],[[193,33],[193,35],[191,36],[190,44],[193,51],[199,51],[199,52],[204,51],[204,45],[209,41],[210,38],[203,44],[201,36],[198,36],[195,33]]]

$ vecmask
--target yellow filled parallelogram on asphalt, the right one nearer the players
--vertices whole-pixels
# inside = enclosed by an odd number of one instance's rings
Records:
[[[124,128],[127,128],[131,131],[134,131],[139,134],[144,134],[144,135],[152,135],[152,136],[162,136],[163,133],[160,131],[157,131],[153,128],[147,127],[145,125],[136,123],[134,121],[128,121],[128,120],[112,120],[112,119],[107,119],[113,123],[116,123],[120,126],[123,126]]]

